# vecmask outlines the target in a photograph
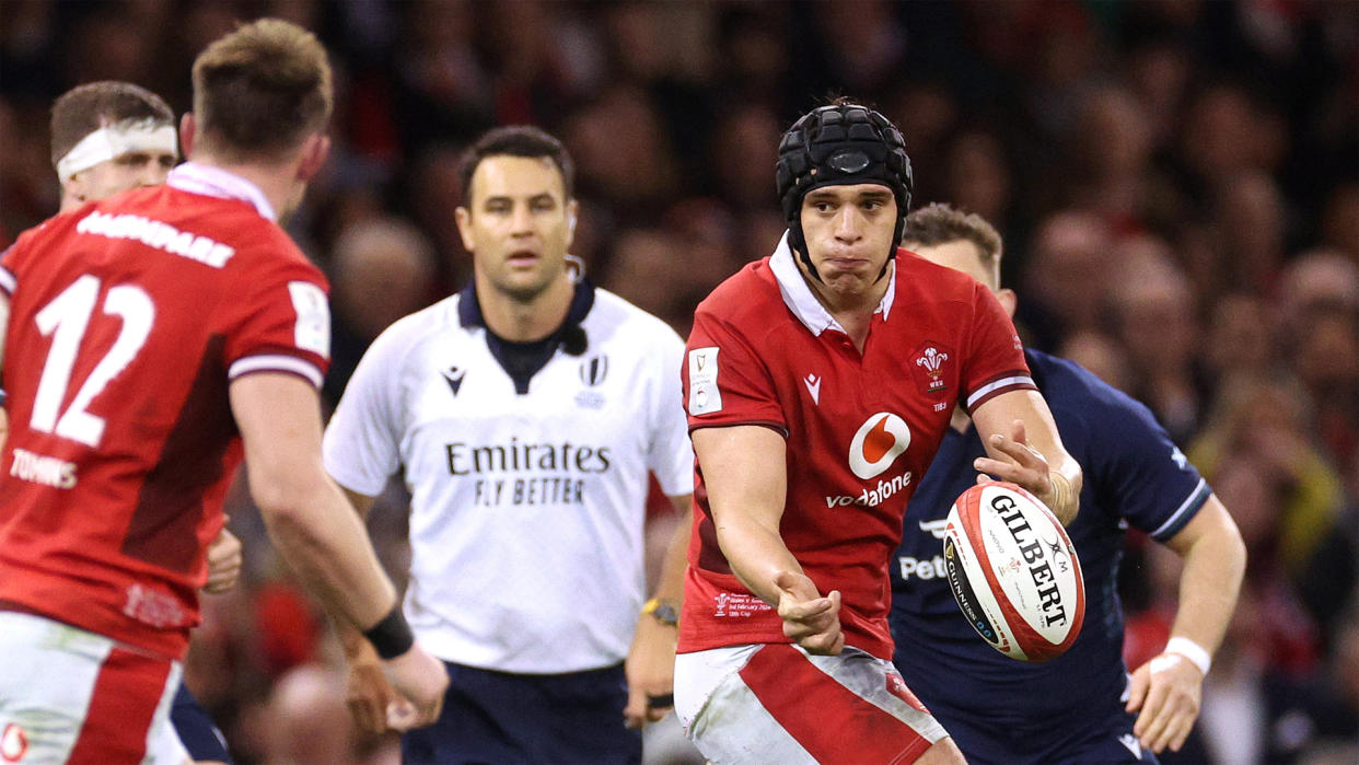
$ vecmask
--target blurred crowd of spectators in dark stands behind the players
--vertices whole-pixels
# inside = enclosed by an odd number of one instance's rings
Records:
[[[1026,341],[1150,406],[1241,527],[1237,620],[1195,738],[1163,760],[1354,761],[1352,1],[5,0],[0,246],[57,208],[56,95],[130,80],[182,113],[192,57],[261,15],[315,30],[337,73],[337,151],[289,224],[333,283],[328,401],[383,327],[463,284],[457,158],[484,129],[533,122],[565,141],[573,254],[684,334],[783,231],[783,129],[852,95],[901,126],[916,205],[1002,231]],[[190,688],[242,762],[390,755],[352,738],[326,624],[234,493],[247,575],[208,598]],[[394,576],[404,501],[394,485],[371,524]],[[1176,563],[1129,539],[1132,662],[1163,644]]]

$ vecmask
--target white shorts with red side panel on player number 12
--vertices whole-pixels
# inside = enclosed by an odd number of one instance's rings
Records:
[[[34,614],[0,611],[0,762],[182,765],[183,667]]]

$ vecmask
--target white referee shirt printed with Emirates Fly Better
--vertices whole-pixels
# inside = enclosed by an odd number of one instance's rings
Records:
[[[375,496],[405,469],[405,614],[440,659],[553,674],[628,654],[648,473],[693,492],[684,342],[603,289],[580,327],[584,353],[559,348],[516,394],[469,285],[382,333],[326,428],[342,486]]]

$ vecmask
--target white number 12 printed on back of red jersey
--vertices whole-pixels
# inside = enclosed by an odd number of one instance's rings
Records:
[[[156,307],[144,289],[133,284],[111,287],[103,299],[103,313],[122,319],[122,329],[76,391],[71,405],[61,412],[80,341],[90,329],[90,318],[99,300],[99,279],[87,273],[72,281],[34,317],[38,332],[43,337],[52,337],[52,346],[42,366],[33,416],[29,419],[29,427],[34,431],[54,433],[91,447],[99,446],[99,439],[103,438],[103,417],[86,409],[137,357],[156,318]]]

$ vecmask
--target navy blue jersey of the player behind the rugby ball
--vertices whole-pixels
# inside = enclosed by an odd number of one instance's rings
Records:
[[[1025,355],[1063,444],[1084,472],[1080,512],[1067,527],[1086,583],[1080,636],[1048,663],[1017,662],[984,643],[958,610],[942,539],[949,508],[976,484],[972,462],[984,454],[970,425],[945,436],[906,508],[892,565],[893,660],[945,728],[957,728],[969,760],[1057,760],[1055,742],[1106,726],[1121,711],[1127,669],[1116,580],[1124,531],[1132,526],[1163,542],[1211,493],[1146,406],[1071,361]]]

